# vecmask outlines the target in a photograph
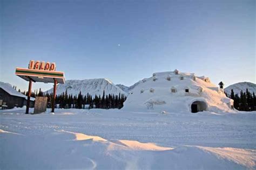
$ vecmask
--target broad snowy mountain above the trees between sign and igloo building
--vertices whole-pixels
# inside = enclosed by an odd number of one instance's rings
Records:
[[[101,95],[105,90],[105,94],[125,94],[122,89],[114,85],[112,81],[99,78],[99,79],[84,79],[84,80],[66,80],[65,84],[59,84],[57,86],[57,94],[62,94],[65,91],[68,91],[68,94],[79,94],[81,91],[82,94],[91,94],[92,96]],[[45,93],[52,93],[53,89],[46,91]]]

